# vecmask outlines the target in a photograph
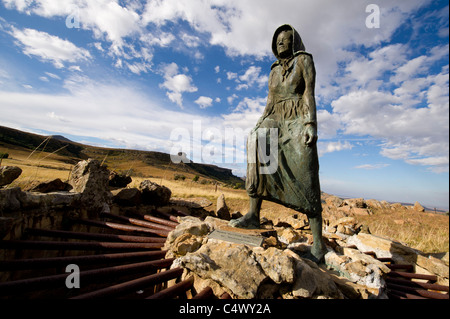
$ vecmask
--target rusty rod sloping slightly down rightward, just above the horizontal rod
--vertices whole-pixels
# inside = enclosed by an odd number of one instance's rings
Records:
[[[45,236],[45,237],[122,241],[122,242],[136,242],[136,243],[164,243],[166,241],[165,238],[161,237],[98,234],[98,233],[72,232],[72,231],[49,230],[38,228],[26,228],[25,234],[34,236]]]

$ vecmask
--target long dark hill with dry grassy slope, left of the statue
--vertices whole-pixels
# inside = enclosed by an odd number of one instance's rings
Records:
[[[168,177],[178,175],[186,179],[198,176],[204,182],[241,187],[244,181],[230,169],[201,163],[171,161],[161,152],[103,148],[72,142],[56,136],[43,136],[0,126],[0,153],[8,153],[15,165],[59,168],[68,170],[80,160],[97,159],[109,169],[136,177]],[[58,166],[58,163],[60,166]]]

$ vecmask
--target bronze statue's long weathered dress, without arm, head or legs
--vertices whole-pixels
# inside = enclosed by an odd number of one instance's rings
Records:
[[[247,142],[246,189],[250,197],[283,204],[314,217],[322,212],[319,160],[316,143],[306,145],[302,134],[307,125],[317,125],[315,102],[314,105],[306,103],[304,96],[308,85],[304,79],[304,68],[308,63],[314,68],[311,55],[300,52],[272,67],[267,106]],[[314,101],[314,92],[308,94],[312,94]],[[272,140],[278,143],[275,172],[268,169],[275,159],[264,165],[267,160],[257,151],[259,148],[260,152],[265,149],[266,154],[269,153],[270,128],[278,129],[277,138]],[[257,139],[258,135],[263,138]],[[264,142],[265,148],[261,145]],[[267,171],[270,173],[267,174]]]

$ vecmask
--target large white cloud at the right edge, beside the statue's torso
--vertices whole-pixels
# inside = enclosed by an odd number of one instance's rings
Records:
[[[388,158],[448,171],[448,66],[435,75],[427,74],[429,68],[426,71],[392,93],[360,90],[333,101],[343,133],[380,139],[380,154]]]

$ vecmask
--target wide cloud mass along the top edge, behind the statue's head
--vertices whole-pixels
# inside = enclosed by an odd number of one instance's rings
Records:
[[[202,43],[189,35],[185,39],[190,46],[218,45],[230,56],[273,58],[270,39],[274,30],[281,24],[293,23],[318,62],[320,87],[332,83],[339,62],[348,61],[352,53],[347,47],[371,47],[389,40],[412,12],[430,0],[378,2],[382,19],[376,32],[365,27],[365,9],[370,1],[279,0],[276,5],[270,0],[165,0],[147,1],[145,5],[118,0],[3,2],[7,8],[45,17],[65,18],[78,13],[81,28],[91,30],[97,39],[109,41],[109,52],[117,58],[125,58],[123,48],[133,46],[135,37],[141,46],[170,45],[174,36],[162,31],[169,21],[187,23],[206,39]],[[193,55],[196,59],[203,57],[199,51]]]

